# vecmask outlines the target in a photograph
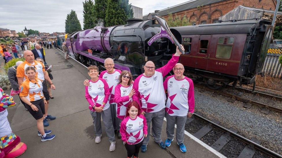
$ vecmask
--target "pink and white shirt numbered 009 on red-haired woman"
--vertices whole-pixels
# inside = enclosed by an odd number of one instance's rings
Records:
[[[138,144],[144,139],[144,134],[147,134],[146,118],[143,115],[136,116],[133,120],[129,116],[120,124],[120,134],[123,142],[127,144]]]

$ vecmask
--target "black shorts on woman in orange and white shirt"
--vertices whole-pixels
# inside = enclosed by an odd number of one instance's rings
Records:
[[[45,114],[45,107],[44,107],[43,99],[32,101],[31,103],[34,104],[38,108],[38,111],[33,111],[31,106],[29,105],[27,105],[27,110],[36,120],[41,119],[43,115]]]

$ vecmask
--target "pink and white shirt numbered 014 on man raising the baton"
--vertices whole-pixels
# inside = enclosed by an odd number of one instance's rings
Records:
[[[155,74],[151,77],[142,74],[136,78],[133,83],[136,93],[132,98],[140,104],[143,111],[155,113],[165,108],[166,94],[163,79],[172,70],[178,59],[179,56],[172,56],[168,63],[155,70]]]

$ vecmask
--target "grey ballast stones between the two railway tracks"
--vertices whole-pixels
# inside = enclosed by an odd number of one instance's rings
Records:
[[[239,130],[246,138],[257,138],[261,145],[282,154],[282,124],[273,116],[262,116],[252,109],[245,110],[243,103],[231,103],[227,97],[212,96],[211,92],[199,92],[195,88],[195,110],[207,119],[217,119],[221,125]],[[187,129],[188,130],[188,129]],[[192,131],[191,131],[192,132]]]

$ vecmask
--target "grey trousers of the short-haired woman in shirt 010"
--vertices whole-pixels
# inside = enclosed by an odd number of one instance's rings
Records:
[[[103,122],[105,124],[106,134],[109,137],[109,141],[112,142],[116,141],[110,108],[107,108],[101,113],[90,111],[90,114],[93,118],[93,124],[94,124],[94,130],[96,136],[101,136],[102,134],[102,125],[101,125],[101,116],[102,116]]]

